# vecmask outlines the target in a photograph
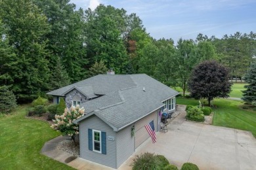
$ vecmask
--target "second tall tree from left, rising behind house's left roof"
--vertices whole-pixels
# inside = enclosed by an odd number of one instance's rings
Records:
[[[49,39],[47,48],[51,51],[50,69],[54,69],[56,60],[60,58],[72,82],[85,78],[87,58],[83,10],[75,10],[75,5],[70,0],[33,1],[43,10],[51,25],[51,30],[46,34]]]

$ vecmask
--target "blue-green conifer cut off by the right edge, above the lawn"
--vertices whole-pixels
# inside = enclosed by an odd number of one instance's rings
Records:
[[[251,63],[251,67],[245,74],[244,80],[248,85],[244,86],[246,90],[242,91],[244,95],[242,100],[253,103],[256,101],[256,63]]]

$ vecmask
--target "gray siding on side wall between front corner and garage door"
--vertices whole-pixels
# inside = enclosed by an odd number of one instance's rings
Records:
[[[116,134],[117,167],[119,167],[134,152],[134,137],[131,136],[133,125],[118,131]]]

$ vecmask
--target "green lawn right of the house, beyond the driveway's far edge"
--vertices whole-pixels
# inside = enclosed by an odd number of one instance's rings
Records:
[[[177,97],[177,103],[199,105],[198,100],[182,97]],[[213,104],[217,106],[213,108],[213,125],[251,131],[256,137],[256,112],[240,109],[241,101],[215,99]]]

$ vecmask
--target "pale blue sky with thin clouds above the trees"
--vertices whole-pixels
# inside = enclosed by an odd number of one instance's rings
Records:
[[[198,33],[217,38],[256,32],[256,0],[71,0],[87,9],[100,3],[136,13],[155,39],[196,39]]]

